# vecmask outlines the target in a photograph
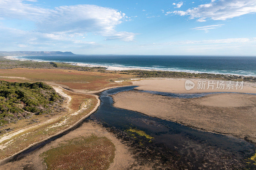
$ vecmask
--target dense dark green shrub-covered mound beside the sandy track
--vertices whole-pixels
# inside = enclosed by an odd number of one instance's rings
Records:
[[[4,124],[61,110],[64,98],[42,82],[0,81],[0,127]]]

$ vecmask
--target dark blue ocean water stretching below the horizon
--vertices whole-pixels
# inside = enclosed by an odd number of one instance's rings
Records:
[[[256,76],[256,56],[37,55],[18,59]]]

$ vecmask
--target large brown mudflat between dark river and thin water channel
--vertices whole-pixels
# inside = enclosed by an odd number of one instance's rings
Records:
[[[256,95],[218,93],[180,99],[128,91],[113,95],[113,99],[115,107],[256,143]]]

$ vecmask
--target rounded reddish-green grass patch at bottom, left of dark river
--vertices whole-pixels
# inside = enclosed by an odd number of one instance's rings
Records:
[[[42,154],[49,170],[108,169],[115,157],[115,145],[106,137],[77,137]]]

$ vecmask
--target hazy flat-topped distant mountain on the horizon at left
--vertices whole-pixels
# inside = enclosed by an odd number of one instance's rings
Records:
[[[70,51],[0,51],[0,55],[75,55]]]

